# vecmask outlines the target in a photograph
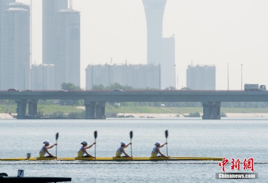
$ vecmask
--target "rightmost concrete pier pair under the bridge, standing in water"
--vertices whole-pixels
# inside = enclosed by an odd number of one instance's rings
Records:
[[[221,119],[221,102],[220,101],[205,101],[203,105],[202,119]]]

